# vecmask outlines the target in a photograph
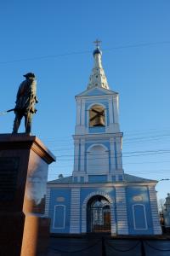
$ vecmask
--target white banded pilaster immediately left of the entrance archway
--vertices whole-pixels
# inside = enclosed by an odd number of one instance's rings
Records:
[[[80,233],[80,189],[71,189],[70,233]]]

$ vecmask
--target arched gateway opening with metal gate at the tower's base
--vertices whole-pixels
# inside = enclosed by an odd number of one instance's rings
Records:
[[[103,195],[94,195],[87,205],[87,231],[111,233],[110,202]]]

